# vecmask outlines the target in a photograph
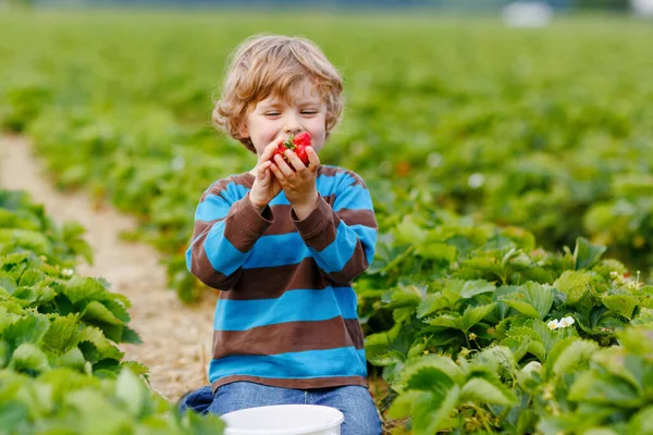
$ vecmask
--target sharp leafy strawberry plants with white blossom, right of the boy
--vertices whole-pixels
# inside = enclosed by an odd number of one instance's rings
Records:
[[[653,433],[653,286],[605,247],[551,252],[520,228],[418,211],[383,224],[358,291],[399,427]]]

